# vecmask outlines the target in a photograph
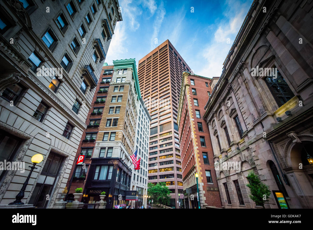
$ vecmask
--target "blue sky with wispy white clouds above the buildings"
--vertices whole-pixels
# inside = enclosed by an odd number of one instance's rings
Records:
[[[119,0],[123,21],[116,24],[105,62],[136,58],[138,66],[169,39],[194,74],[219,77],[252,2]]]

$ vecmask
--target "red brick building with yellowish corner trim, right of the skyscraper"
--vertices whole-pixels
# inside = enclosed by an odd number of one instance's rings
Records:
[[[200,207],[221,207],[213,148],[208,125],[203,119],[209,96],[211,79],[183,72],[178,108],[178,132],[182,158],[182,182],[186,208],[198,208],[197,182],[199,174]]]

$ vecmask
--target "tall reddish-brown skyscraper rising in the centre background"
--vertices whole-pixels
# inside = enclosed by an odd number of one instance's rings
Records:
[[[148,182],[166,182],[173,208],[183,205],[184,196],[177,126],[184,71],[190,72],[190,67],[169,40],[140,59],[138,65],[141,95],[151,116]]]

